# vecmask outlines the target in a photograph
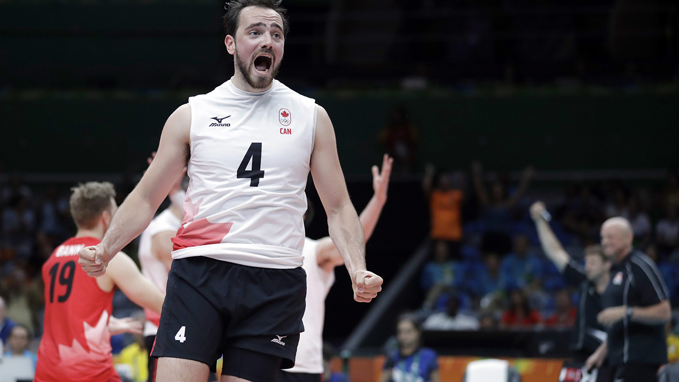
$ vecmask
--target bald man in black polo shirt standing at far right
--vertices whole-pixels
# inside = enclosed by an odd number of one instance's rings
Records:
[[[672,309],[663,277],[653,260],[632,248],[633,236],[625,218],[610,218],[601,227],[604,253],[613,262],[598,316],[608,340],[587,363],[598,364],[608,354],[614,381],[651,382],[667,362],[664,324]]]

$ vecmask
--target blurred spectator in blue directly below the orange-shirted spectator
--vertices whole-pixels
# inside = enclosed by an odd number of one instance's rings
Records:
[[[464,269],[458,261],[449,259],[449,248],[446,242],[434,243],[434,261],[429,261],[422,269],[422,289],[427,296],[425,309],[431,309],[439,294],[456,288],[464,281]]]

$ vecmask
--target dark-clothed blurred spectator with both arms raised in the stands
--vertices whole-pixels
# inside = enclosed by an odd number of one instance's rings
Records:
[[[533,168],[528,167],[524,170],[521,177],[519,188],[513,195],[507,195],[504,185],[496,180],[492,185],[490,197],[483,185],[483,168],[478,161],[472,165],[474,177],[474,187],[476,189],[479,203],[481,204],[481,218],[485,223],[485,233],[481,240],[481,251],[507,253],[511,248],[509,234],[512,231],[511,208],[519,202],[521,196],[528,189],[528,183],[533,176]]]

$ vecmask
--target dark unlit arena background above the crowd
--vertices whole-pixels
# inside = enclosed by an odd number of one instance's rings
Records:
[[[419,183],[428,162],[546,172],[679,164],[672,1],[284,5],[291,32],[278,79],[329,112],[359,212],[394,109],[418,130],[416,166],[394,174],[367,247],[369,268],[387,283],[428,232]],[[0,1],[3,181],[111,174],[127,181],[120,193],[130,191],[166,117],[233,74],[222,14],[218,1]],[[308,235],[318,238],[325,214],[311,181],[308,189],[317,211]],[[346,271],[336,273],[325,326],[335,342],[368,307],[350,300]]]

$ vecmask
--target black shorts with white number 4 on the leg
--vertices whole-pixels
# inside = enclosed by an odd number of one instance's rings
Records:
[[[153,357],[215,371],[230,347],[295,364],[306,299],[304,269],[269,269],[194,256],[172,261]],[[225,363],[227,360],[225,360]]]

